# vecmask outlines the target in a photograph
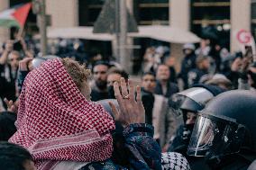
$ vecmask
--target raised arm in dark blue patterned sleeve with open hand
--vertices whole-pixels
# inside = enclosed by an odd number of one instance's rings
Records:
[[[128,91],[129,89],[129,91]],[[153,127],[145,123],[145,110],[141,99],[141,87],[136,87],[136,99],[132,81],[121,79],[121,90],[114,83],[114,95],[120,111],[110,103],[115,121],[123,124],[123,152],[129,169],[161,169],[160,146],[153,139]],[[118,149],[118,148],[117,148]]]

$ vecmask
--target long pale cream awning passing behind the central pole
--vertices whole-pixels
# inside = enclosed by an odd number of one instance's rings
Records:
[[[114,40],[112,34],[93,33],[93,27],[49,28],[47,35],[50,39]],[[139,26],[139,32],[128,33],[128,37],[151,38],[170,43],[196,43],[200,41],[200,38],[190,31],[166,25]]]

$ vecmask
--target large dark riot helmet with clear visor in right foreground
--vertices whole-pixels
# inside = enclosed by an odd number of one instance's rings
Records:
[[[256,93],[233,90],[219,94],[200,111],[187,155],[212,159],[256,151]]]

